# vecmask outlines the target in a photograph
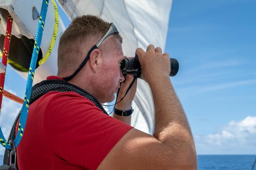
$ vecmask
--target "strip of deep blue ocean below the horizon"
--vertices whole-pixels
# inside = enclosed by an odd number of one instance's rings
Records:
[[[256,155],[197,155],[198,170],[251,170],[255,159]],[[2,164],[3,155],[0,155]]]

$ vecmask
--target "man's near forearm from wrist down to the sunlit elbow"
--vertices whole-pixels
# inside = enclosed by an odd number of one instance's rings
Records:
[[[172,87],[169,77],[156,78],[149,82],[155,105],[155,137],[172,124],[181,124],[190,132],[187,117]],[[168,131],[168,130],[167,130]],[[163,135],[162,135],[163,137]]]

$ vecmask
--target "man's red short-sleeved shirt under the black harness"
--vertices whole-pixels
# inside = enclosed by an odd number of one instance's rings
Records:
[[[97,169],[130,129],[132,126],[104,114],[75,92],[49,92],[29,106],[17,147],[18,168]]]

